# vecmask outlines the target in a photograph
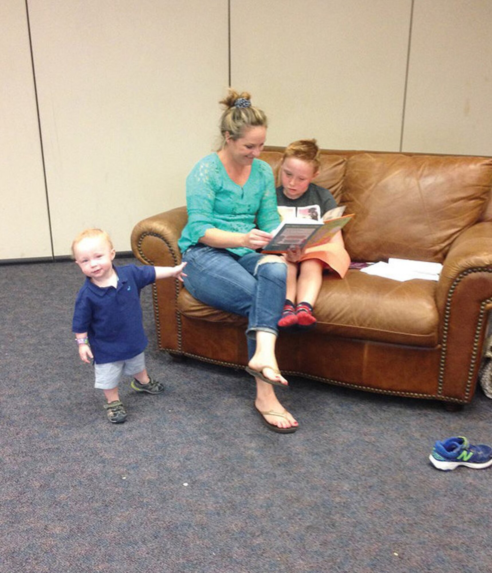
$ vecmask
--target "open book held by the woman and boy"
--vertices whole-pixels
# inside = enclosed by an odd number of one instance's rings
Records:
[[[336,207],[336,210],[344,207]],[[327,218],[334,209],[327,211],[321,221],[309,218],[286,219],[272,231],[273,238],[263,247],[263,253],[286,253],[292,247],[310,248],[329,242],[334,234],[352,219],[353,215]],[[338,211],[340,212],[340,211]]]

